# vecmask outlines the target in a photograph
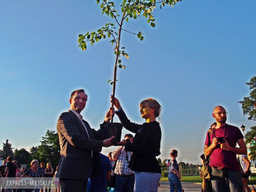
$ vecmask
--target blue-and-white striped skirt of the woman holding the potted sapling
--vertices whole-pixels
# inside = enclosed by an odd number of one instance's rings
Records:
[[[161,173],[135,171],[134,192],[157,192]]]

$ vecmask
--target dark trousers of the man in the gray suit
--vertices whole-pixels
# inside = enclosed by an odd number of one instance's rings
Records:
[[[86,192],[88,180],[59,179],[61,192]]]

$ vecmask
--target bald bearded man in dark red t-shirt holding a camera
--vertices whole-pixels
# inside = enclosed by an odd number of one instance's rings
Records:
[[[227,112],[222,106],[213,110],[212,117],[216,127],[207,132],[204,154],[211,155],[210,166],[223,169],[223,177],[212,171],[212,188],[214,192],[242,192],[243,183],[236,154],[246,155],[247,149],[244,137],[238,127],[226,124]],[[236,148],[236,144],[239,147]],[[226,172],[226,173],[225,173]]]

